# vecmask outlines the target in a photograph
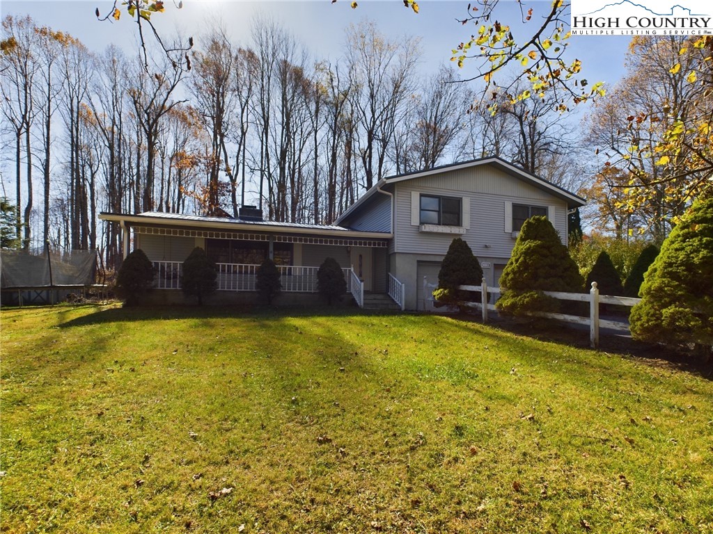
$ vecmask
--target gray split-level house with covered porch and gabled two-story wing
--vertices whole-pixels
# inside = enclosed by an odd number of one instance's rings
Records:
[[[489,285],[511,256],[525,219],[548,216],[566,243],[568,211],[585,201],[497,157],[379,180],[332,226],[263,221],[243,208],[238,219],[167,213],[100,215],[124,230],[124,254],[141,248],[157,268],[158,293],[180,298],[180,265],[195,246],[218,267],[218,290],[250,298],[255,269],[270,256],[283,293],[316,291],[324,258],[344,268],[349,292],[364,306],[388,293],[401,309],[429,310],[431,288],[451,241],[460,237],[481,261]],[[242,295],[240,295],[242,294]],[[254,293],[252,293],[254,295]],[[281,297],[283,298],[283,297]]]

